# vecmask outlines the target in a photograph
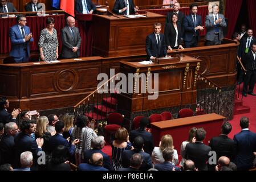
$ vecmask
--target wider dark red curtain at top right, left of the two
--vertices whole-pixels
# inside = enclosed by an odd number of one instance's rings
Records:
[[[231,39],[233,35],[235,24],[237,23],[237,18],[241,10],[242,2],[243,2],[242,0],[226,0],[225,18],[227,18],[229,21],[226,37],[229,39]]]

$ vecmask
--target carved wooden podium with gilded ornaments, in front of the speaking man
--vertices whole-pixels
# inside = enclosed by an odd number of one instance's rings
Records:
[[[128,73],[158,73],[159,97],[148,100],[147,93],[122,93],[119,96],[119,109],[129,114],[147,110],[157,110],[166,107],[196,104],[196,82],[200,61],[190,56],[183,56],[178,62],[176,58],[167,59],[164,64],[140,64],[137,62],[120,62],[120,72]],[[153,81],[154,82],[154,81]],[[140,82],[141,87],[143,83]],[[152,84],[153,85],[153,84]],[[133,82],[133,86],[136,87]],[[127,113],[127,114],[128,114]],[[128,115],[129,115],[128,114]]]

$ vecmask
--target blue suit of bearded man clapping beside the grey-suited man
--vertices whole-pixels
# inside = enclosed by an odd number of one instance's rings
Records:
[[[196,27],[197,26],[202,26],[202,18],[200,15],[196,15]],[[197,43],[200,40],[199,30],[195,31],[194,28],[195,26],[194,26],[192,15],[189,14],[185,16],[183,20],[183,30],[184,30],[183,40],[185,41],[185,47],[189,47],[188,44],[192,45],[192,43],[194,44],[190,47],[196,47]],[[195,38],[194,42],[192,42],[193,38]]]

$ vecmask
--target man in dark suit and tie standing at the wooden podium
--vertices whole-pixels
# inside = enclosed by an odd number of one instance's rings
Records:
[[[167,57],[164,34],[161,32],[161,23],[154,24],[154,32],[146,39],[146,51],[148,60],[155,60],[157,57]]]

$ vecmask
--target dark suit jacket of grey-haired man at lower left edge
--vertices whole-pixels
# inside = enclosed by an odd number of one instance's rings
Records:
[[[2,164],[14,164],[14,137],[4,135],[0,141],[0,152],[2,156]]]

